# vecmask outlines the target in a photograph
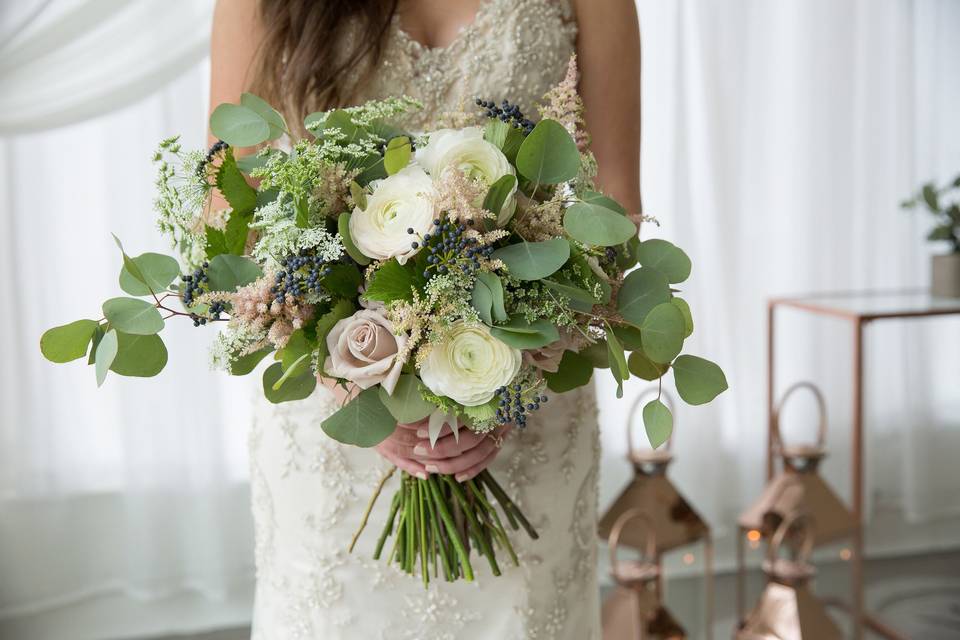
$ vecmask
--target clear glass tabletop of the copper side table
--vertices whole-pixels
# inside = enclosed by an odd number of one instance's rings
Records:
[[[868,320],[960,314],[960,298],[938,298],[925,290],[820,293],[779,298],[771,305]]]

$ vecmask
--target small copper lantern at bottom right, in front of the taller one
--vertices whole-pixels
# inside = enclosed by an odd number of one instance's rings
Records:
[[[840,640],[843,635],[820,602],[810,592],[815,570],[809,564],[813,550],[813,520],[803,515],[787,517],[767,547],[763,570],[767,586],[736,640]],[[779,557],[784,538],[791,534],[799,551],[794,559]]]

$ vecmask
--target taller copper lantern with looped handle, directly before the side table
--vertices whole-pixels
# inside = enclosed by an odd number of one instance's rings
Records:
[[[817,401],[820,420],[815,445],[786,446],[780,433],[780,415],[787,400],[796,391],[807,389]],[[818,473],[826,457],[827,409],[820,390],[810,382],[798,382],[787,389],[772,416],[771,447],[783,460],[783,470],[768,483],[760,498],[738,519],[737,541],[737,615],[743,619],[745,599],[744,538],[755,546],[760,538],[770,539],[789,520],[804,516],[817,523],[815,544],[827,544],[849,536],[858,526],[847,506]],[[787,539],[788,543],[792,541]]]

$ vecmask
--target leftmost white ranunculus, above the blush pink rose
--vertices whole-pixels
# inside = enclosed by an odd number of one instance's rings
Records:
[[[408,166],[374,183],[367,208],[350,216],[350,236],[363,255],[404,264],[419,251],[413,243],[433,226],[436,189],[423,169]],[[407,232],[413,229],[413,235]],[[422,245],[421,245],[422,246]]]

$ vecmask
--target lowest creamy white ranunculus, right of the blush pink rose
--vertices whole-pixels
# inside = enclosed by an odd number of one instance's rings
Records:
[[[520,350],[493,337],[486,326],[461,321],[432,345],[420,365],[420,379],[435,394],[475,407],[513,380],[520,360]]]

